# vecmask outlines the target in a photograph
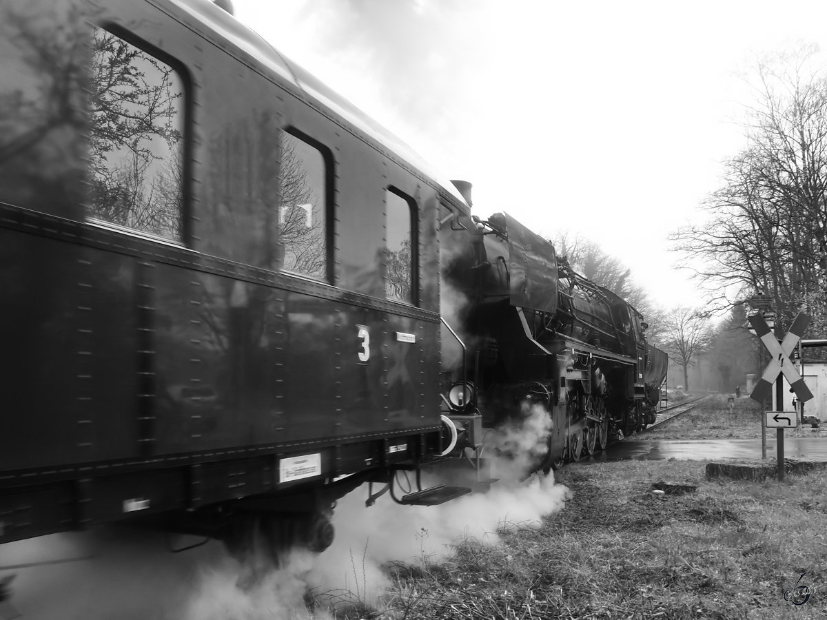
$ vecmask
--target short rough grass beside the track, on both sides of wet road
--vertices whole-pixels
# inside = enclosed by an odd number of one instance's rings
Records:
[[[710,398],[648,435],[760,437],[760,419],[758,405],[746,398],[731,414],[725,397]],[[557,482],[571,498],[542,527],[504,528],[493,546],[457,541],[438,564],[423,558],[418,566],[389,565],[394,585],[383,608],[337,617],[827,618],[827,471],[790,475],[781,484],[707,480],[705,464],[566,467]],[[696,490],[653,494],[661,480]],[[802,573],[798,585],[813,592],[795,605],[784,593]]]

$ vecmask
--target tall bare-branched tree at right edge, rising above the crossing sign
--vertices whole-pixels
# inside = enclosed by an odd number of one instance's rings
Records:
[[[801,308],[827,327],[827,74],[816,49],[758,63],[745,107],[746,147],[725,162],[724,184],[702,205],[710,217],[672,235],[712,308],[772,296],[782,323]],[[827,334],[825,334],[827,335]]]

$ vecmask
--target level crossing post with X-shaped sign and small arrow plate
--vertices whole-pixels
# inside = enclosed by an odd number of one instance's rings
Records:
[[[791,388],[801,403],[813,398],[813,394],[790,359],[790,354],[796,348],[796,343],[804,335],[804,330],[810,323],[810,317],[800,312],[796,320],[792,322],[790,331],[786,332],[786,336],[781,342],[772,333],[762,315],[753,314],[752,317],[749,317],[749,323],[770,353],[770,363],[767,365],[767,369],[764,370],[761,379],[758,379],[758,384],[756,384],[749,398],[762,403],[764,399],[772,396],[772,382],[776,382],[776,411],[765,412],[764,427],[777,429],[778,480],[783,481],[784,429],[798,427],[798,416],[796,413],[784,411],[784,379],[782,379],[782,375],[790,382]]]

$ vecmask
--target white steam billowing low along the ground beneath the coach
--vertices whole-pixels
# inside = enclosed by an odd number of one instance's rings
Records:
[[[526,406],[523,414],[525,422],[499,429],[495,442],[504,452],[528,459],[544,445],[550,422],[539,407]],[[522,465],[520,458],[501,459],[497,475],[514,478],[524,471]],[[523,484],[501,479],[488,494],[440,506],[400,506],[385,495],[366,508],[367,489],[356,489],[338,503],[337,537],[327,551],[317,556],[295,550],[282,568],[245,589],[238,584],[244,583],[246,567],[227,556],[220,543],[171,554],[162,535],[124,528],[5,545],[0,565],[94,556],[17,570],[13,603],[24,618],[327,620],[326,609],[337,603],[381,608],[390,585],[382,570],[386,562],[438,562],[465,537],[495,544],[502,528],[539,527],[543,516],[562,508],[567,493],[551,476],[535,476]],[[308,610],[308,599],[316,601],[316,608]]]

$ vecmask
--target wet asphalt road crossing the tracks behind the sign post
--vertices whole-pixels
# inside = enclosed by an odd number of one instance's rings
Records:
[[[767,458],[776,456],[776,433],[767,432]],[[788,459],[827,461],[827,436],[784,437],[784,456]],[[591,460],[719,460],[760,459],[760,439],[710,439],[705,441],[641,441],[627,439],[609,446]],[[589,459],[582,459],[589,462]]]

